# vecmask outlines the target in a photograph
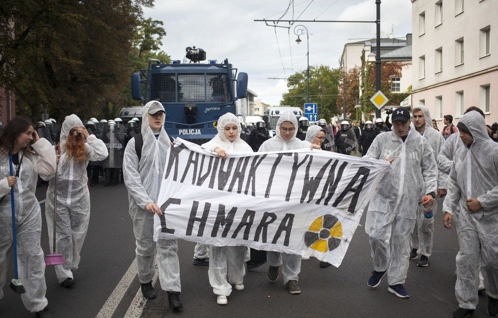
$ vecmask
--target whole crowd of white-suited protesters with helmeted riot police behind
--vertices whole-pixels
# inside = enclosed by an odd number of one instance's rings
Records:
[[[480,289],[488,296],[487,313],[498,315],[496,131],[485,125],[484,114],[476,107],[468,108],[457,125],[450,115],[445,116],[441,131],[425,106],[399,107],[390,119],[359,125],[343,121],[338,126],[320,120],[310,125],[292,112],[283,112],[275,136],[270,137],[265,122],[242,126],[236,116],[227,113],[218,119],[217,135],[201,147],[223,159],[234,153],[307,148],[388,161],[390,167],[367,208],[365,230],[373,260],[373,271],[366,279],[369,288],[378,288],[387,274],[387,290],[400,298],[410,297],[405,288],[409,262],[416,260],[417,266],[430,268],[435,199],[444,198],[442,226],[456,227],[459,243],[455,271],[458,308],[452,316],[471,315]],[[160,286],[168,294],[170,308],[183,307],[178,243],[174,239],[154,242],[152,237],[154,215],[163,213],[157,202],[160,178],[167,150],[173,147],[164,120],[163,105],[150,101],[143,108],[142,120],[130,120],[126,126],[119,118],[91,118],[83,124],[73,114],[65,118],[60,130],[53,120],[33,125],[21,117],[3,127],[0,298],[8,260],[16,247],[16,277],[11,287],[36,316],[51,315],[45,297],[46,263],[55,265],[63,287],[74,288],[90,217],[89,186],[101,176],[105,185],[120,180],[126,185],[143,296],[157,296],[152,285],[157,262]],[[45,259],[40,242],[42,214],[35,196],[38,177],[48,182],[45,217],[53,252]],[[58,257],[64,262],[54,263]],[[300,255],[197,244],[193,258],[195,265],[208,265],[209,283],[220,305],[228,302],[232,287],[244,289],[247,269],[265,262],[269,263],[271,282],[282,273],[286,289],[291,294],[301,293]],[[320,267],[328,265],[320,263]]]

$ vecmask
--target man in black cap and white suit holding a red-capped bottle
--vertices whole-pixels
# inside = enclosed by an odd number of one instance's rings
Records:
[[[425,188],[429,195],[437,190],[437,168],[429,142],[410,131],[408,110],[396,109],[392,121],[393,130],[380,133],[364,156],[391,162],[368,206],[365,231],[370,236],[374,271],[367,284],[377,287],[387,271],[388,290],[408,298],[403,283],[409,262],[409,234],[415,226],[422,191]],[[432,202],[430,196],[423,204],[431,207]]]

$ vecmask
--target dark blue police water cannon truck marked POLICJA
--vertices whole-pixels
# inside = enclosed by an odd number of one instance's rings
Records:
[[[237,69],[227,59],[199,63],[205,59],[202,49],[187,48],[186,52],[186,57],[197,63],[177,60],[162,64],[149,59],[147,70],[131,76],[132,97],[144,104],[160,101],[166,110],[168,135],[202,144],[217,134],[221,115],[236,114],[235,101],[247,95],[247,74],[239,72],[237,76]]]

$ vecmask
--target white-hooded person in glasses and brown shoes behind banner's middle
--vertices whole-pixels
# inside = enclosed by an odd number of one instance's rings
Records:
[[[276,135],[265,141],[258,151],[294,150],[310,148],[310,146],[320,149],[318,145],[312,145],[308,141],[296,138],[297,130],[298,121],[296,115],[290,111],[283,112],[277,121]],[[290,293],[301,293],[301,287],[298,283],[298,274],[301,271],[301,255],[269,251],[267,253],[267,260],[270,264],[268,279],[271,282],[277,281],[280,265],[283,264],[282,274],[284,275],[284,284],[286,284]]]

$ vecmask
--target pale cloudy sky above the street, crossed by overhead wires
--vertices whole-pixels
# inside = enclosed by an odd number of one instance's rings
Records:
[[[308,28],[310,66],[337,68],[344,45],[374,38],[375,24],[295,23],[288,29],[254,20],[374,21],[376,6],[375,0],[156,0],[144,17],[163,22],[161,49],[172,60],[183,60],[185,48],[192,46],[206,51],[206,63],[227,58],[238,72],[248,74],[256,100],[279,105],[287,82],[271,78],[287,78],[307,68],[306,32],[298,45],[297,25]],[[411,32],[410,0],[382,0],[382,37],[404,38]]]

